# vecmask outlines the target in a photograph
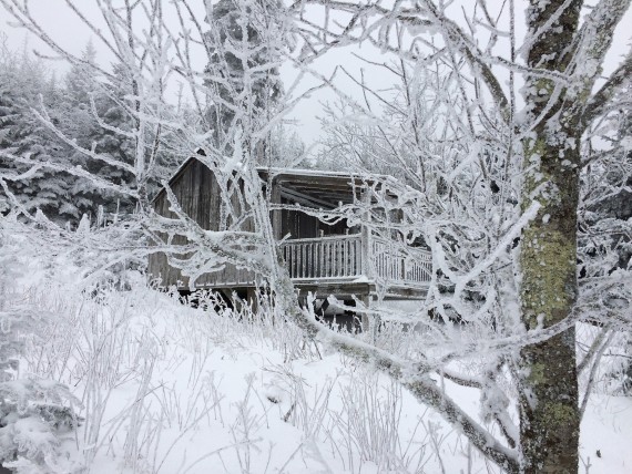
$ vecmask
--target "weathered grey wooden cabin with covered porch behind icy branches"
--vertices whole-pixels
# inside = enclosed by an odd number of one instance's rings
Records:
[[[285,206],[272,212],[272,223],[278,240],[287,237],[282,244],[283,257],[299,296],[312,291],[320,299],[333,295],[340,300],[356,297],[370,302],[377,295],[426,295],[431,271],[427,250],[408,247],[405,256],[394,241],[384,238],[384,234],[378,237],[367,226],[348,227],[346,220],[329,225],[307,213],[363,199],[367,203],[375,186],[367,186],[365,179],[349,173],[259,168],[258,174],[262,186],[272,185],[272,203]],[[170,187],[190,217],[205,229],[217,230],[221,197],[208,167],[190,158],[172,177]],[[159,214],[172,216],[164,189],[153,204]],[[188,279],[171,267],[162,254],[150,257],[149,272],[163,287],[190,287]],[[246,295],[255,289],[255,284],[253,272],[226,265],[221,271],[203,275],[194,287]]]

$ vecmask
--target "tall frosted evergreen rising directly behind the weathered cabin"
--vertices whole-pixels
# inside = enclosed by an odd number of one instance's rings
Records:
[[[208,126],[217,144],[226,140],[238,122],[265,123],[276,115],[275,106],[283,94],[278,68],[282,63],[283,16],[279,1],[221,0],[206,16],[205,43],[208,62],[204,86],[208,95]],[[257,144],[257,161],[269,164],[271,137]]]

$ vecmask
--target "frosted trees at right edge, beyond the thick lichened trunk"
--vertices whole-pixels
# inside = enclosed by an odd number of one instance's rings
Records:
[[[589,132],[582,148],[578,214],[580,301],[595,322],[604,323],[602,352],[608,354],[609,383],[630,393],[630,312],[632,291],[625,282],[632,268],[632,109],[628,84]],[[597,306],[594,301],[602,305]],[[605,341],[612,339],[612,346]],[[590,380],[594,383],[594,380]]]

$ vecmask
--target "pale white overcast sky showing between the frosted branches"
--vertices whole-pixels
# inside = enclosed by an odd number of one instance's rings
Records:
[[[597,0],[592,0],[587,3],[594,3],[595,1]],[[202,4],[202,0],[198,0],[198,2]],[[471,0],[457,0],[452,8],[458,9],[460,8],[459,3],[468,4],[468,2],[469,4],[472,4]],[[490,10],[498,9],[503,3],[507,4],[504,0],[488,0]],[[523,11],[526,3],[526,0],[517,0],[517,12]],[[75,4],[81,6],[89,17],[99,19],[99,11],[90,0],[75,1]],[[72,53],[80,54],[81,51],[85,48],[89,39],[93,38],[93,34],[88,30],[88,28],[81,24],[81,22],[65,6],[65,0],[31,0],[30,7],[33,17],[41,22],[44,29],[49,32],[50,37]],[[26,31],[11,28],[7,24],[7,20],[8,14],[0,9],[0,31],[4,31],[8,34],[8,43],[11,49],[21,49],[24,42],[28,41],[28,47],[30,49],[35,48],[44,53],[48,53],[48,51],[50,51],[47,50],[47,48],[42,48],[39,40],[34,38],[29,37],[29,39],[26,40],[28,37]],[[625,52],[631,48],[632,29],[630,27],[632,27],[632,11],[628,12],[626,17],[620,23],[616,30],[613,48],[608,54],[604,63],[604,74],[610,73],[620,63]],[[524,31],[523,20],[519,19],[517,30],[519,33],[520,31]],[[104,48],[96,40],[93,40],[93,42],[99,54],[98,60],[103,62],[111,62],[112,56],[108,54]],[[369,45],[363,45],[360,50],[356,49],[355,51],[359,51],[363,53],[363,55],[368,56],[376,62],[388,61],[390,58]],[[329,52],[326,58],[315,63],[314,68],[319,73],[329,75],[337,64],[345,65],[355,73],[357,73],[360,68],[366,68],[366,64],[363,64],[360,61],[353,58],[349,49]],[[60,71],[64,71],[63,65],[60,63],[57,63],[54,66]],[[202,66],[203,59],[201,59],[201,68]],[[376,87],[389,87],[390,81],[393,80],[391,75],[385,74],[384,72],[375,69],[369,69],[366,72],[366,78],[368,78],[368,80]],[[284,66],[282,69],[282,78],[286,84],[292,82],[295,74],[296,71],[294,71],[290,65]],[[340,75],[340,78],[343,75]],[[354,87],[351,87],[350,82],[342,82],[342,84],[346,91],[351,90],[351,95],[357,99],[361,99],[359,91],[353,91]],[[299,121],[297,132],[299,136],[306,142],[306,144],[309,144],[317,140],[320,134],[318,116],[323,114],[323,107],[320,105],[320,102],[323,101],[336,101],[335,93],[332,91],[318,91],[317,93],[313,94],[310,99],[302,102],[295,110],[295,113],[289,115],[289,117],[294,117]]]

